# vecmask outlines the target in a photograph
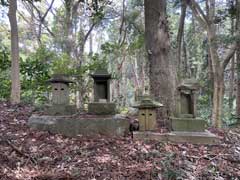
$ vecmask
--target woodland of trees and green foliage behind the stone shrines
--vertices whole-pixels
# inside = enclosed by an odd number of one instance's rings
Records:
[[[9,2],[0,6],[1,99],[41,106],[49,99],[46,80],[66,73],[77,81],[72,103],[84,109],[92,97],[89,73],[107,67],[119,112],[150,91],[171,114],[176,85],[196,78],[199,116],[216,127],[238,119],[237,0]],[[14,39],[19,47],[11,48]]]

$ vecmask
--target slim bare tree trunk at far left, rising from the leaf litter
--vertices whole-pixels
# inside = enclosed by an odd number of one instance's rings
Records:
[[[19,45],[18,45],[18,26],[17,26],[17,0],[9,1],[9,22],[11,27],[11,103],[20,103],[20,71],[19,71]]]

